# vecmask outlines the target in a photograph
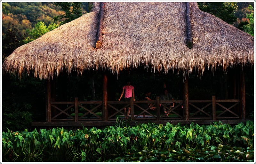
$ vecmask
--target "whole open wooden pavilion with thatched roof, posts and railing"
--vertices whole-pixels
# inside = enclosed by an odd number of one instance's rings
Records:
[[[3,71],[47,80],[46,121],[33,122],[33,126],[113,125],[129,105],[129,117],[137,123],[209,124],[221,120],[235,124],[246,121],[243,68],[252,68],[253,60],[254,37],[199,10],[196,2],[97,2],[94,11],[18,47],[4,61]],[[107,71],[119,74],[141,68],[155,74],[175,71],[183,75],[183,100],[157,97],[150,102],[157,107],[156,113],[140,106],[148,101],[108,100]],[[201,76],[205,69],[226,72],[229,68],[239,70],[234,81],[238,98],[218,100],[213,95],[211,100],[189,100],[189,74]],[[103,73],[101,101],[55,101],[58,76],[91,70]],[[175,117],[165,118],[159,107],[163,103],[177,104],[170,111]],[[109,114],[109,108],[115,112]],[[141,112],[135,114],[134,108]],[[150,117],[140,117],[143,113]],[[66,117],[58,118],[61,114]]]

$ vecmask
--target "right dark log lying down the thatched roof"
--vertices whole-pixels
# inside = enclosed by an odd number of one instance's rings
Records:
[[[187,42],[186,45],[189,49],[193,47],[192,38],[192,26],[191,26],[191,14],[190,14],[190,3],[186,2],[186,21],[187,21]]]

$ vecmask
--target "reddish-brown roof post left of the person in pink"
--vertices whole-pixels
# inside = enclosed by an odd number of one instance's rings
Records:
[[[102,119],[103,121],[108,121],[108,76],[107,73],[103,75],[102,84]]]

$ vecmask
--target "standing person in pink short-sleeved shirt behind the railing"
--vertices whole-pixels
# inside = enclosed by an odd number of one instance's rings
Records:
[[[133,97],[133,100],[135,100],[134,99],[134,87],[131,85],[130,79],[126,80],[126,85],[123,87],[123,91],[122,91],[121,96],[118,99],[118,101],[121,100],[123,95],[124,95],[125,101],[130,101],[130,97]],[[126,113],[126,108],[124,108],[124,113],[127,114],[127,116],[130,115],[130,111],[131,111],[131,107],[128,107],[127,113]],[[128,117],[124,116],[124,118],[128,118]]]

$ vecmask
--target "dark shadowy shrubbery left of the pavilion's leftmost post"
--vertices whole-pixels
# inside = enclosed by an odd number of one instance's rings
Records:
[[[2,131],[30,130],[33,120],[44,119],[45,83],[24,76],[3,75]]]

